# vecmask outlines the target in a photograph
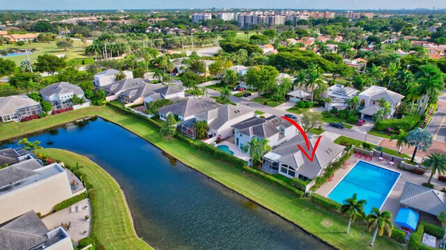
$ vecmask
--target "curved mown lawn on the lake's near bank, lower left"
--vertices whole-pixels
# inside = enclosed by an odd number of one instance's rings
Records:
[[[77,162],[84,166],[82,172],[89,177],[91,192],[92,236],[98,238],[105,249],[152,249],[134,231],[130,210],[118,183],[90,159],[75,153],[47,148],[40,153],[50,155],[70,166]]]

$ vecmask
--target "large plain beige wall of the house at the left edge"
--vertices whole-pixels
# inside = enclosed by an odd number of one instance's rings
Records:
[[[47,214],[72,197],[66,171],[0,196],[0,224],[30,210]]]

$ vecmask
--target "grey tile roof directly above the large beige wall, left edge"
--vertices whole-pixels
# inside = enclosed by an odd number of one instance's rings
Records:
[[[35,159],[26,159],[4,169],[0,169],[0,187],[36,175],[37,172],[35,170],[41,167]]]

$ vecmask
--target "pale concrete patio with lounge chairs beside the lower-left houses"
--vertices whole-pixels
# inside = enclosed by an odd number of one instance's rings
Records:
[[[70,235],[71,239],[75,241],[75,245],[77,245],[77,242],[80,239],[90,235],[91,219],[86,221],[85,215],[88,214],[91,218],[91,205],[88,198],[79,201],[74,205],[82,205],[82,210],[79,212],[70,212],[70,208],[65,208],[55,212],[54,214],[50,214],[49,216],[43,218],[42,221],[49,230],[58,228],[61,226],[61,223],[69,224],[71,222],[70,229],[67,230],[67,233]],[[85,208],[85,206],[87,206],[87,208]],[[84,234],[84,231],[87,231],[86,235]]]

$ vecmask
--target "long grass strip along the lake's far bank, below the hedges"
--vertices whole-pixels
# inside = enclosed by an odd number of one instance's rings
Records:
[[[363,225],[353,224],[351,232],[346,235],[348,220],[339,214],[325,210],[315,205],[308,198],[296,198],[288,192],[270,185],[259,178],[243,174],[224,162],[216,161],[210,155],[197,153],[195,148],[190,148],[179,141],[164,141],[159,131],[145,122],[146,118],[124,115],[123,111],[114,107],[88,107],[69,111],[57,116],[47,116],[26,123],[7,123],[0,127],[0,140],[12,136],[42,130],[57,124],[77,120],[85,116],[100,116],[113,123],[122,125],[130,132],[141,136],[162,148],[166,153],[175,157],[192,169],[213,178],[222,185],[243,194],[252,201],[263,205],[294,224],[299,225],[305,231],[320,237],[325,242],[330,242],[338,249],[371,249],[369,244],[373,233],[367,231]],[[148,214],[150,216],[150,214]],[[396,216],[396,214],[394,214]],[[364,236],[361,234],[364,233]],[[111,239],[114,240],[114,239]],[[404,249],[402,244],[388,237],[377,237],[374,249]],[[128,249],[128,248],[122,248]]]

